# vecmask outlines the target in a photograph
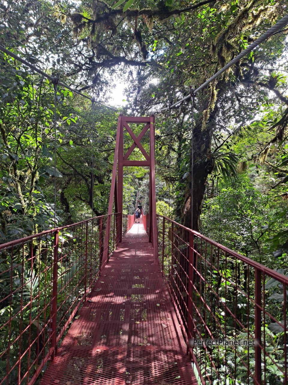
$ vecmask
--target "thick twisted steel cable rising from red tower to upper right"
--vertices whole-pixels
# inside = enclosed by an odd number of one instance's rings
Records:
[[[206,82],[204,82],[198,88],[196,88],[192,93],[194,95],[196,95],[197,92],[199,92],[204,87],[206,87],[208,84],[213,82],[213,80],[215,80],[218,76],[223,74],[223,72],[225,72],[227,69],[232,67],[232,65],[236,64],[240,59],[242,59],[247,54],[250,54],[250,52],[252,52],[253,49],[255,49],[259,44],[263,43],[269,37],[271,37],[275,33],[279,32],[281,30],[281,28],[285,27],[286,24],[288,24],[288,14],[285,15],[281,20],[279,20],[275,25],[273,25],[273,27],[269,28],[268,31],[263,33],[263,35],[258,37],[258,39],[256,39],[252,44],[248,45],[248,47],[245,50],[243,50],[242,52],[240,52],[240,54],[238,54],[232,60],[230,60],[230,62],[228,62],[218,72],[216,72],[216,74],[214,74],[208,80],[206,80]],[[189,95],[185,96],[184,98],[178,100],[177,102],[175,102],[171,106],[166,107],[166,108],[162,108],[161,110],[158,110],[158,111],[154,112],[154,114],[159,114],[160,112],[167,111],[168,109],[171,109],[171,108],[175,107],[177,104],[179,104],[181,102],[184,102],[184,100],[187,100],[187,99],[190,99],[190,98],[191,98],[191,95],[189,94]]]

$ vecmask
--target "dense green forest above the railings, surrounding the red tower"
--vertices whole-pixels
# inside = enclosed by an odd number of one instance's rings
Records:
[[[0,12],[3,47],[96,101],[125,82],[123,113],[149,115],[262,35],[286,2],[8,0]],[[274,256],[286,267],[288,248],[287,32],[196,95],[193,142],[191,100],[156,114],[159,213],[187,227],[192,213],[195,230],[271,267]],[[0,60],[1,242],[54,226],[54,175],[57,225],[106,214],[117,112],[61,87],[55,105],[47,79]],[[127,213],[137,191],[144,202],[144,168],[125,174]]]

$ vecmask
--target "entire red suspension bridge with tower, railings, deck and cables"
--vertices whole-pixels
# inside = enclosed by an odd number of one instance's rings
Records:
[[[194,102],[287,23],[288,15],[158,112]],[[0,50],[50,79],[55,100],[59,84],[94,103]],[[0,385],[287,384],[288,276],[156,214],[154,123],[154,115],[119,115],[107,215],[0,245]],[[131,125],[142,125],[138,136]],[[124,132],[133,142],[126,153]],[[129,159],[136,147],[144,160]],[[122,212],[126,166],[149,167],[149,212],[139,224]]]

